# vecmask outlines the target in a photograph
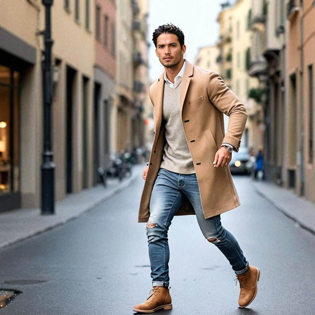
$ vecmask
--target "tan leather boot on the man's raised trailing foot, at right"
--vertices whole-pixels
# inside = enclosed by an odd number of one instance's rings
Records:
[[[236,275],[241,292],[238,298],[239,307],[246,307],[254,301],[257,294],[257,281],[259,280],[260,270],[254,266],[248,266],[248,270],[241,275]]]

